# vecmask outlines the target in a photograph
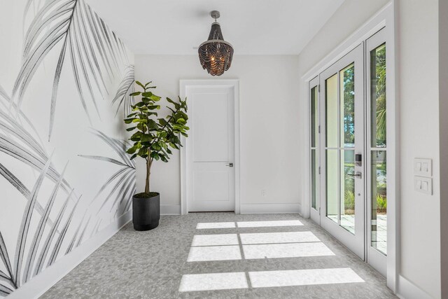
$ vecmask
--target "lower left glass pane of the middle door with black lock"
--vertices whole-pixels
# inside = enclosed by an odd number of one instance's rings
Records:
[[[332,221],[339,223],[338,216],[338,202],[339,202],[339,151],[338,150],[327,150],[326,151],[326,189],[327,189],[327,211],[326,215]]]

